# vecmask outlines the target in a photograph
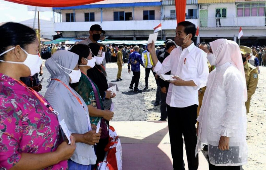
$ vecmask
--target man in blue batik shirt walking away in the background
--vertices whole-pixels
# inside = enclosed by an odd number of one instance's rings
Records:
[[[133,72],[132,80],[129,85],[129,88],[133,90],[133,84],[135,83],[134,91],[140,92],[141,90],[138,89],[139,86],[139,78],[140,78],[140,64],[145,68],[142,56],[139,54],[139,46],[134,46],[134,52],[129,55],[128,59],[128,73],[130,73],[130,65],[131,71]]]

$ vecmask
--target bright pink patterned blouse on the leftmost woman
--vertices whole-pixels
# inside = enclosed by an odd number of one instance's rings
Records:
[[[0,103],[0,169],[12,168],[19,162],[21,153],[56,150],[61,143],[57,116],[30,90],[2,73]],[[66,168],[67,161],[62,161],[45,169]]]

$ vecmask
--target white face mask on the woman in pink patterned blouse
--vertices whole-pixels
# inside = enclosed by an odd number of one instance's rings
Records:
[[[0,56],[6,54],[7,52],[10,52],[13,49],[15,49],[15,47],[3,52],[2,54],[0,54]],[[1,62],[7,62],[7,63],[14,63],[14,64],[24,64],[30,69],[31,76],[33,76],[36,73],[39,73],[41,63],[43,62],[41,60],[41,58],[39,57],[39,55],[38,54],[37,55],[29,54],[23,48],[21,48],[21,49],[27,54],[27,58],[25,61],[23,61],[23,62],[3,61],[3,60],[0,60],[0,61]]]

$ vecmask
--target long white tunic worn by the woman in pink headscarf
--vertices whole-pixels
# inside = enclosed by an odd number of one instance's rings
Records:
[[[230,62],[211,71],[200,110],[196,153],[208,144],[210,163],[238,166],[247,163],[246,81]],[[219,150],[221,136],[229,137],[229,150]]]

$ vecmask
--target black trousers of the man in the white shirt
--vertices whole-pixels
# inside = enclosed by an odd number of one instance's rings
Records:
[[[197,122],[198,105],[185,108],[170,107],[167,105],[168,128],[173,158],[174,170],[185,170],[183,160],[183,138],[186,145],[186,156],[189,170],[198,169],[198,154],[195,157],[197,135],[195,124]]]

